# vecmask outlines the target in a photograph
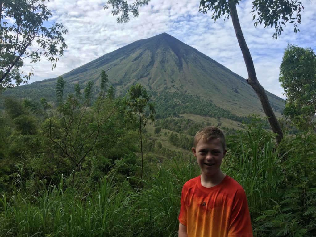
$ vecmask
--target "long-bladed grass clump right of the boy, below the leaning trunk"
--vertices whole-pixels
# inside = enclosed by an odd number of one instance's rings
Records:
[[[272,138],[265,140],[265,135],[259,140],[252,140],[247,133],[249,144],[243,142],[239,134],[240,149],[232,151],[231,158],[225,159],[224,167],[233,179],[237,180],[246,191],[249,209],[256,217],[267,208],[271,208],[271,198],[277,185],[284,179],[283,168],[280,165],[282,157],[278,148],[274,147]]]

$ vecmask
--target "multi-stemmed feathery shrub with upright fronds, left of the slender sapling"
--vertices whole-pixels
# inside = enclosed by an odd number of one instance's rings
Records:
[[[58,108],[48,104],[45,98],[40,103],[24,100],[24,106],[42,120],[38,123],[41,141],[36,146],[40,148],[39,155],[34,160],[38,163],[34,165],[42,164],[40,172],[45,175],[56,170],[65,174],[81,172],[92,160],[101,167],[102,163],[110,164],[111,158],[121,157],[126,150],[130,152],[131,144],[125,144],[124,140],[129,135],[125,129],[125,103],[108,98],[106,82],[107,75],[101,73],[102,88],[93,103],[91,81],[82,91],[76,84],[75,93],[65,95],[66,82],[62,77],[56,85]]]

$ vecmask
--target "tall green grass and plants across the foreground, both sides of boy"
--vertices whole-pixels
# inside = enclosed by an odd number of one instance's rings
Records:
[[[254,236],[314,236],[316,136],[297,134],[276,147],[263,126],[253,119],[228,138],[223,171],[245,188]],[[18,163],[11,191],[2,193],[0,236],[177,235],[181,188],[198,175],[197,164],[166,159],[143,180],[124,179],[126,164],[118,160],[105,176],[58,175],[52,184]]]

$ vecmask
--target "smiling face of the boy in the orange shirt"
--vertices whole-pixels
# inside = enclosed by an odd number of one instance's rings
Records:
[[[221,175],[221,164],[227,150],[223,149],[222,142],[218,138],[209,141],[200,139],[192,151],[204,178],[216,179]]]

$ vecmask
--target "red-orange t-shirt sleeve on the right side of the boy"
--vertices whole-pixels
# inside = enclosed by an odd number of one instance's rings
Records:
[[[250,213],[245,191],[236,191],[231,211],[228,237],[252,237]]]

